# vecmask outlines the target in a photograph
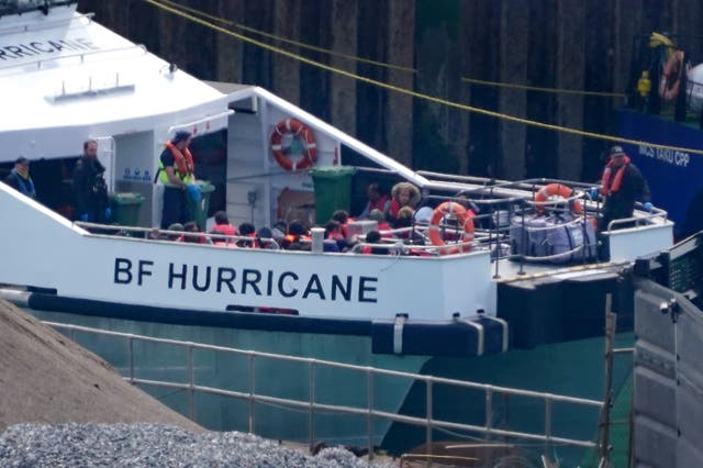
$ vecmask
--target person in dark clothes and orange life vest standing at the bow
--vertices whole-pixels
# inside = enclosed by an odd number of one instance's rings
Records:
[[[644,203],[645,210],[651,210],[649,186],[637,167],[632,164],[622,146],[613,146],[611,160],[603,170],[600,194],[604,197],[603,215],[599,221],[599,231],[607,230],[613,220],[632,218],[635,201]],[[626,224],[614,226],[625,227]]]

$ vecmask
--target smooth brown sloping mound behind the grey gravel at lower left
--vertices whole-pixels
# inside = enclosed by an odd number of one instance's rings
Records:
[[[100,357],[0,299],[0,434],[30,422],[202,430],[124,381]]]

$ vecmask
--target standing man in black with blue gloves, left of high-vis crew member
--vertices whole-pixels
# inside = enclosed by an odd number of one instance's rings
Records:
[[[76,215],[80,221],[104,223],[112,214],[108,200],[104,166],[98,160],[98,142],[83,143],[83,155],[74,168]]]

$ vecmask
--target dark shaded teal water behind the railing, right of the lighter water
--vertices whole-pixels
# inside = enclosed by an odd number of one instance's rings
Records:
[[[623,333],[616,336],[615,347],[628,347],[633,343],[634,335]],[[603,338],[590,338],[476,358],[433,358],[423,367],[422,374],[602,401],[604,398],[604,346]],[[613,369],[615,394],[626,386],[631,375],[632,356],[620,356]],[[414,385],[401,412],[424,414],[425,392],[424,386]],[[456,388],[436,385],[434,392],[435,417],[449,422],[486,425],[487,399],[483,390],[458,391]],[[555,402],[551,406],[550,433],[557,437],[595,441],[599,416],[600,408]],[[505,397],[494,392],[491,425],[525,433],[545,434],[545,401],[525,397]],[[425,442],[425,436],[424,428],[393,424],[383,445],[419,446]],[[480,433],[455,431],[433,433],[434,441],[467,443],[482,438],[484,436]],[[553,459],[560,460],[561,466],[567,467],[583,466],[582,460],[590,453],[585,448],[563,444],[545,444],[496,436],[491,439],[514,444],[528,454],[531,459],[547,453]]]

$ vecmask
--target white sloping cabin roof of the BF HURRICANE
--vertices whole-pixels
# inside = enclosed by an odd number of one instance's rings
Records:
[[[105,123],[119,134],[153,129],[158,115],[181,113],[187,121],[226,110],[223,93],[170,71],[167,62],[75,5],[0,18],[0,100],[5,134],[60,127],[90,133]]]

